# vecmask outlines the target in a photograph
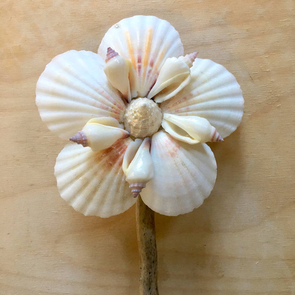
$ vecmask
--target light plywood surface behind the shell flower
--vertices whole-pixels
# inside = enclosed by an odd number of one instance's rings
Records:
[[[42,123],[35,86],[67,50],[97,52],[136,14],[166,19],[240,83],[245,114],[222,144],[212,194],[193,212],[155,214],[159,294],[295,294],[294,1],[0,3],[0,294],[138,294],[135,207],[75,212],[53,175],[65,142]]]

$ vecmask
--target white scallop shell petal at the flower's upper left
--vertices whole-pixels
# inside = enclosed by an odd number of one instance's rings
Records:
[[[41,74],[36,104],[42,121],[60,138],[68,139],[91,118],[123,120],[124,102],[104,66],[96,53],[71,50],[53,58]]]

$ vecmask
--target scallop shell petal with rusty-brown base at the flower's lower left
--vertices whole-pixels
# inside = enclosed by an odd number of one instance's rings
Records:
[[[130,138],[118,140],[105,150],[70,143],[55,164],[58,190],[65,201],[84,215],[109,217],[120,214],[136,201],[122,170]]]

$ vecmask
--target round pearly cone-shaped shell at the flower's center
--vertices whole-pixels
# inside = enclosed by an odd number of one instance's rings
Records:
[[[130,102],[125,115],[125,129],[135,138],[153,135],[161,126],[163,115],[155,101],[137,98]]]

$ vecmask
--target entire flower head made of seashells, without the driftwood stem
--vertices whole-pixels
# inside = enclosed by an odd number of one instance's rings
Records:
[[[183,54],[168,22],[134,16],[106,32],[98,54],[71,50],[46,66],[36,104],[71,140],[55,176],[75,210],[109,217],[140,194],[155,212],[178,215],[209,196],[217,168],[205,142],[237,128],[244,100],[231,73],[196,55]]]

